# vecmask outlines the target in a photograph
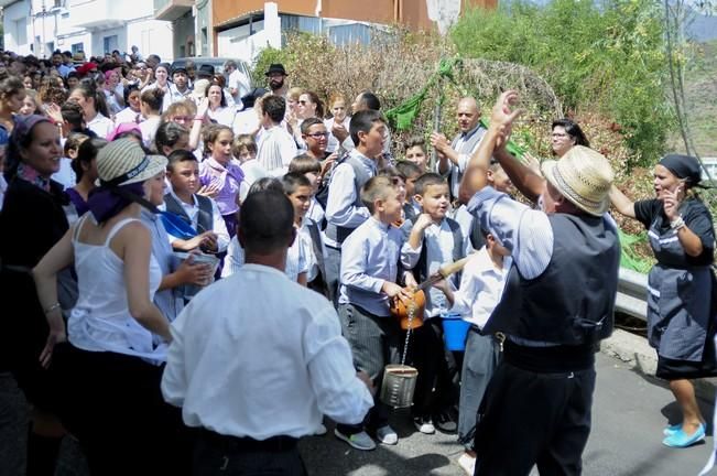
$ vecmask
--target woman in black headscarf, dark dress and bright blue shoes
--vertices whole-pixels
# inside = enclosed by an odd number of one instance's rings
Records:
[[[648,229],[658,263],[648,279],[648,337],[658,350],[656,376],[670,381],[683,413],[669,425],[663,444],[686,447],[705,437],[703,418],[689,379],[714,375],[714,315],[710,271],[715,230],[709,210],[691,192],[700,167],[688,155],[664,156],[654,167],[653,199],[631,202],[615,186],[612,205]]]

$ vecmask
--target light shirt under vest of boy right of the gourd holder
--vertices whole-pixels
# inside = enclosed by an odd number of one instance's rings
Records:
[[[401,248],[401,261],[406,263],[406,268],[413,269],[419,263],[423,247],[426,249],[426,275],[434,274],[443,264],[454,261],[454,236],[450,226],[445,219],[441,225],[431,224],[423,232],[423,240],[417,248],[412,248],[406,240]],[[463,256],[467,256],[472,248],[470,240],[465,236],[459,244]],[[450,282],[450,280],[448,280]],[[426,293],[425,318],[431,318],[445,314],[448,311],[448,302],[443,291],[431,288]]]

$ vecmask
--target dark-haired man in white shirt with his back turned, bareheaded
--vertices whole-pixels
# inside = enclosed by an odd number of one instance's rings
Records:
[[[322,414],[357,424],[373,404],[332,304],[284,273],[293,221],[282,192],[250,194],[237,234],[246,264],[172,324],[162,393],[199,429],[194,474],[305,475],[297,439]]]

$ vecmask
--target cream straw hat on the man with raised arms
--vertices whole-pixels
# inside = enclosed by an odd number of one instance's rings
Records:
[[[602,216],[609,206],[612,167],[599,152],[575,145],[558,161],[545,161],[543,175],[565,198],[595,216]]]

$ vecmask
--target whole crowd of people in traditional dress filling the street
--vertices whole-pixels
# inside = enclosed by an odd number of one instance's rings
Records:
[[[116,53],[2,55],[0,473],[53,474],[68,436],[93,475],[307,474],[296,442],[329,422],[359,451],[399,444],[381,390],[404,361],[412,423],[456,434],[466,473],[580,474],[613,324],[610,203],[658,259],[650,343],[684,413],[663,443],[704,440],[689,379],[717,368],[698,299],[717,286],[696,159],[663,158],[655,199],[633,203],[571,119],[554,158],[513,158],[514,91],[487,128],[464,97],[452,140],[393,143],[369,90],[349,105],[281,64],[264,89],[231,61]]]

